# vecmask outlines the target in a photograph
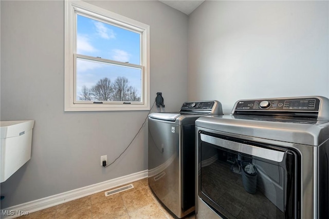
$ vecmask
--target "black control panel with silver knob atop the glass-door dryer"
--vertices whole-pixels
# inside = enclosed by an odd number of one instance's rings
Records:
[[[315,111],[320,109],[320,99],[278,98],[247,99],[236,102],[234,111]]]

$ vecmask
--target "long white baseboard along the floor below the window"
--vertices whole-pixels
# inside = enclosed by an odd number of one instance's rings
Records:
[[[24,214],[24,212],[32,213],[35,211],[40,211],[46,208],[50,208],[56,205],[60,205],[69,201],[76,200],[81,197],[95,194],[107,189],[112,189],[114,187],[132,183],[146,177],[148,177],[148,170],[144,170],[126,176],[121,176],[118,178],[114,178],[113,180],[108,180],[102,183],[97,183],[79,189],[74,189],[71,191],[63,192],[49,197],[44,197],[39,200],[12,206],[1,210],[1,218],[15,218],[17,216],[21,216],[20,213]]]

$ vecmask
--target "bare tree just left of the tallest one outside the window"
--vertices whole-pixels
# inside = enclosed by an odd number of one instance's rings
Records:
[[[90,94],[97,101],[112,101],[113,100],[113,85],[107,77],[100,79],[95,86],[90,88]]]

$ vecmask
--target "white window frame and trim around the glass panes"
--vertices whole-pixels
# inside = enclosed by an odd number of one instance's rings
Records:
[[[104,21],[117,24],[141,33],[141,102],[91,102],[76,101],[76,11],[97,17]],[[65,1],[65,39],[64,39],[64,111],[125,111],[125,110],[150,110],[150,26],[135,21],[131,18],[113,13],[97,6],[82,1]],[[78,57],[81,57],[78,56]],[[97,60],[97,57],[93,57]],[[104,61],[104,59],[101,59]],[[109,63],[116,64],[115,61]],[[122,63],[119,63],[121,64]],[[133,64],[125,64],[126,66]]]

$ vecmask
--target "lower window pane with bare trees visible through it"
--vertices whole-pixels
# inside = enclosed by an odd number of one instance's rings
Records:
[[[141,68],[77,58],[76,101],[140,102]]]

